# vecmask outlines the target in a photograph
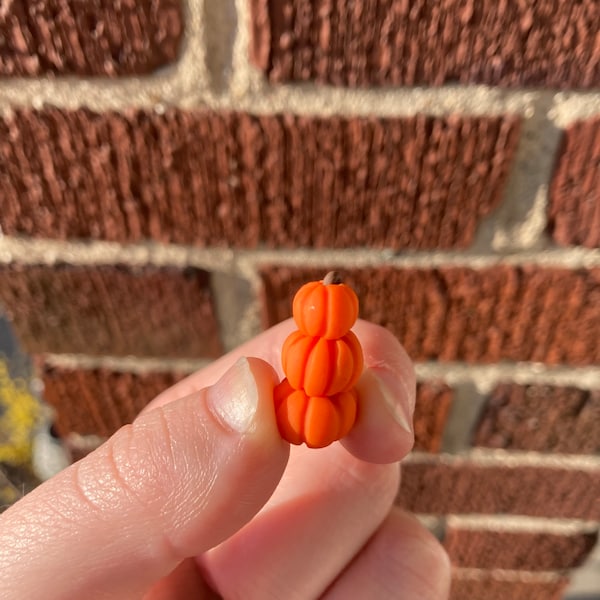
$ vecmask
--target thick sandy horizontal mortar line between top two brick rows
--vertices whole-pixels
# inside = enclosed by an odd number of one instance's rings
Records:
[[[175,64],[144,77],[0,80],[0,114],[9,114],[15,108],[40,109],[49,105],[66,110],[86,107],[98,112],[131,108],[162,112],[171,106],[252,115],[292,113],[315,117],[401,118],[417,114],[483,117],[507,113],[527,117],[537,99],[551,99],[555,94],[550,90],[504,90],[483,85],[356,89],[268,83],[246,90],[243,95],[235,88],[219,94],[208,87],[211,75],[203,60],[200,61],[203,53],[196,51],[190,55],[197,61],[194,67]],[[184,58],[185,55],[181,60]],[[587,111],[589,116],[600,115],[600,106],[591,99],[587,102],[593,107]],[[581,103],[585,106],[585,101]],[[568,124],[568,118],[563,117],[561,126]]]

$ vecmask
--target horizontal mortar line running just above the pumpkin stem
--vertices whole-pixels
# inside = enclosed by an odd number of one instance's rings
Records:
[[[494,253],[481,250],[405,251],[350,248],[328,249],[231,249],[201,248],[179,244],[106,241],[63,241],[0,235],[0,264],[73,265],[123,264],[130,266],[192,266],[235,272],[255,278],[263,266],[298,266],[354,269],[366,267],[483,269],[497,265],[537,265],[584,269],[600,266],[600,249],[583,247],[548,248]]]

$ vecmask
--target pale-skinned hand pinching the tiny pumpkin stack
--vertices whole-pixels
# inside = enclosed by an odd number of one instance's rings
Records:
[[[413,444],[406,353],[357,322],[355,428],[325,449],[290,447],[272,390],[294,328],[281,323],[166,390],[2,514],[0,597],[445,600],[446,554],[394,506]]]

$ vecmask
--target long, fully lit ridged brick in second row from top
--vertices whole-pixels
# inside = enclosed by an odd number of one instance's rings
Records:
[[[19,110],[0,119],[0,226],[201,246],[462,248],[501,198],[519,129],[509,116]]]

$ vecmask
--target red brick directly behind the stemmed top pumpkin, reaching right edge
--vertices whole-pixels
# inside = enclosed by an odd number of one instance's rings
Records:
[[[302,283],[327,269],[265,267],[265,323],[290,316]],[[600,363],[600,270],[350,269],[361,317],[392,331],[413,360]]]

